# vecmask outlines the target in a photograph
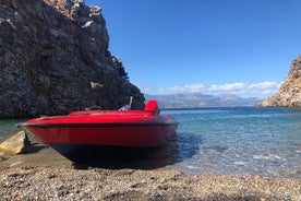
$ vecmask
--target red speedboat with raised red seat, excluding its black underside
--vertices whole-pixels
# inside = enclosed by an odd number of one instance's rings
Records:
[[[157,102],[149,100],[144,110],[73,111],[32,119],[19,127],[56,150],[67,145],[152,147],[164,144],[178,127],[176,119],[159,113]]]

